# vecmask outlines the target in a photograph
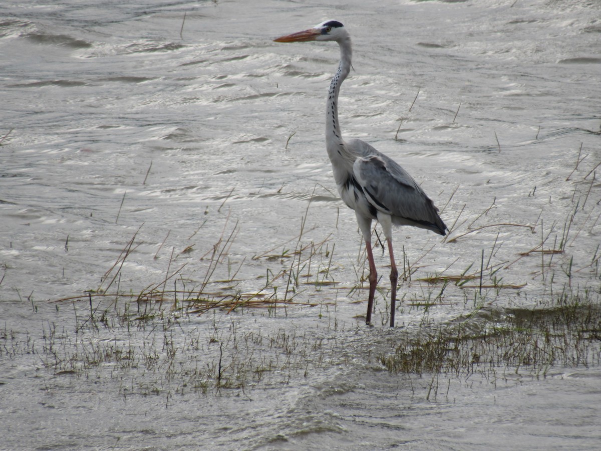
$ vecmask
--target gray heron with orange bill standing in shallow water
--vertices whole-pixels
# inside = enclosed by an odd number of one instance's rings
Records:
[[[336,41],[340,46],[340,63],[330,83],[326,102],[326,150],[340,197],[355,210],[365,240],[370,266],[370,294],[365,322],[371,325],[377,284],[376,263],[371,249],[371,221],[375,219],[380,223],[388,244],[391,265],[390,327],[394,327],[398,270],[392,251],[392,225],[413,225],[442,236],[447,235],[448,227],[442,222],[432,200],[400,165],[364,141],[343,140],[338,122],[338,93],[349,75],[353,53],[350,35],[344,25],[338,20],[325,20],[313,28],[274,41]]]

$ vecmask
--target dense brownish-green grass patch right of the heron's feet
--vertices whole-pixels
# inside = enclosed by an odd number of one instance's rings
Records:
[[[419,333],[401,331],[379,360],[394,373],[466,376],[502,372],[546,376],[554,366],[601,364],[598,293],[564,290],[535,308],[480,308]]]

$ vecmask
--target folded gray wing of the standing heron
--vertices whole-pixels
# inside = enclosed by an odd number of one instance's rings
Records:
[[[447,226],[432,200],[400,165],[360,140],[347,143],[358,158],[353,164],[355,179],[369,203],[392,216],[397,225],[415,225],[445,235]]]

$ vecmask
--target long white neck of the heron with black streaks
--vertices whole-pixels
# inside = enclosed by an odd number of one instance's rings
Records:
[[[338,45],[340,46],[340,64],[338,64],[336,75],[330,83],[328,102],[326,102],[326,149],[328,149],[330,159],[335,158],[340,145],[344,143],[338,122],[338,93],[340,93],[342,82],[349,75],[350,60],[353,54],[350,37],[338,41]]]

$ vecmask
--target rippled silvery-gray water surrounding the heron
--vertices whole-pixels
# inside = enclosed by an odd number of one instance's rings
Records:
[[[389,373],[376,355],[401,330],[471,318],[476,298],[494,312],[565,286],[599,292],[601,4],[334,3],[0,6],[2,446],[598,446],[599,367],[439,381]],[[272,42],[326,18],[353,36],[346,137],[397,159],[452,229],[395,232],[399,266],[415,272],[394,331],[381,326],[380,251],[377,327],[360,318],[361,240],[324,149],[337,46]],[[525,254],[542,241],[564,252]],[[285,313],[163,308],[127,332],[116,313],[83,324],[84,293],[106,289],[115,262],[120,292],[208,279],[215,296],[281,300],[287,279],[270,279],[297,242],[316,254]],[[482,298],[478,279],[420,280],[481,267]],[[56,302],[71,296],[82,300]],[[100,299],[94,311],[112,306]],[[220,358],[242,382],[203,393],[199,368]]]

